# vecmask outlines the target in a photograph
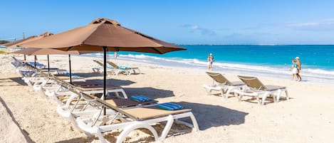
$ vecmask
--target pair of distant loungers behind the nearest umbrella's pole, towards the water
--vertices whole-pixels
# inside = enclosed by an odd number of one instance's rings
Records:
[[[99,66],[98,68],[92,68],[93,72],[95,73],[103,73],[103,62],[100,60],[93,60],[95,63],[97,63]],[[115,63],[108,61],[107,62],[107,73],[110,73],[111,75],[118,75],[120,73],[125,75],[131,75],[136,74],[140,72],[140,69],[137,67],[127,67],[122,65],[116,65]]]

